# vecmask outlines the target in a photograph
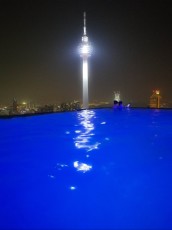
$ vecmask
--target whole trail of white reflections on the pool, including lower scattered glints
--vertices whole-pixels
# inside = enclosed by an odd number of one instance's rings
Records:
[[[90,170],[92,170],[93,166],[89,162],[87,162],[88,158],[90,159],[90,154],[93,150],[97,150],[99,148],[100,142],[96,141],[95,131],[95,112],[92,110],[82,110],[77,113],[77,123],[74,125],[74,129],[66,130],[65,134],[69,135],[69,138],[73,136],[73,142],[76,150],[79,150],[79,159],[73,159],[71,163],[66,163],[66,160],[63,162],[56,163],[54,168],[54,173],[49,174],[49,178],[55,179],[58,181],[58,184],[63,184],[64,178],[67,189],[75,191],[78,190],[78,186],[75,184],[75,178],[70,181],[69,177],[64,177],[73,170],[77,173],[87,174]],[[101,125],[106,124],[105,121],[100,123]],[[83,151],[80,151],[83,150]],[[84,155],[80,154],[80,152],[84,153]],[[84,156],[82,158],[82,156]],[[82,159],[81,159],[82,158]]]

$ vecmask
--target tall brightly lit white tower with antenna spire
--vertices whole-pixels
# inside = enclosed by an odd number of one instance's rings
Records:
[[[91,47],[88,42],[87,30],[86,30],[86,13],[84,12],[84,27],[83,36],[80,46],[80,56],[82,57],[82,78],[83,78],[83,104],[82,108],[87,109],[88,103],[88,57],[91,55]]]

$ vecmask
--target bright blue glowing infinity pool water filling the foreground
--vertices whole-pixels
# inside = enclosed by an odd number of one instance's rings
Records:
[[[0,119],[0,229],[172,229],[172,110]]]

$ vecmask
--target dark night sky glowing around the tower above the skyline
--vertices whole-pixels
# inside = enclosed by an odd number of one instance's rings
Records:
[[[83,12],[94,52],[89,98],[172,102],[172,1],[1,0],[0,105],[82,101]]]

